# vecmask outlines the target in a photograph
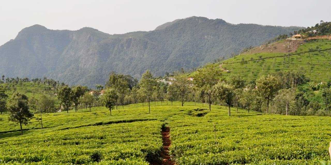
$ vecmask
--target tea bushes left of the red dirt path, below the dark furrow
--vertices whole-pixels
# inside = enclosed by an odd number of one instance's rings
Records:
[[[0,140],[0,163],[147,165],[160,158],[161,125],[153,120],[38,130]]]

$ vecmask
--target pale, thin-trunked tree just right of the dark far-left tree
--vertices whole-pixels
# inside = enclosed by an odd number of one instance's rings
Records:
[[[55,101],[49,96],[42,95],[40,99],[37,101],[37,108],[35,112],[40,113],[41,129],[43,128],[42,113],[47,111],[51,112],[54,109],[55,109]]]

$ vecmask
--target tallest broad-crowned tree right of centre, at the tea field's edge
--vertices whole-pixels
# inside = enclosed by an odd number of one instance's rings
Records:
[[[213,64],[206,65],[206,67],[199,69],[194,76],[194,83],[197,87],[203,90],[203,93],[208,96],[209,111],[211,111],[211,95],[213,86],[219,81],[221,71],[218,66]]]

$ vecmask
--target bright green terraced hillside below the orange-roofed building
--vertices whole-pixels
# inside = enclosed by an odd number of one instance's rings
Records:
[[[317,46],[321,51],[316,49]],[[223,63],[224,69],[229,70],[229,72],[223,71],[224,77],[239,74],[247,81],[252,81],[261,75],[300,70],[311,81],[327,82],[330,80],[329,75],[331,74],[331,41],[318,40],[305,43],[293,53],[240,54],[213,65],[219,67],[221,63]],[[195,72],[188,76],[194,75]]]

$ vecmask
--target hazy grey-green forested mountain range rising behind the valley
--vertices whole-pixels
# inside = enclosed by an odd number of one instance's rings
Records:
[[[111,71],[140,78],[192,69],[258,46],[299,27],[230,24],[222,19],[189,17],[149,32],[109,35],[93,28],[50,30],[24,28],[0,47],[0,73],[7,77],[48,77],[61,82],[104,84]]]

